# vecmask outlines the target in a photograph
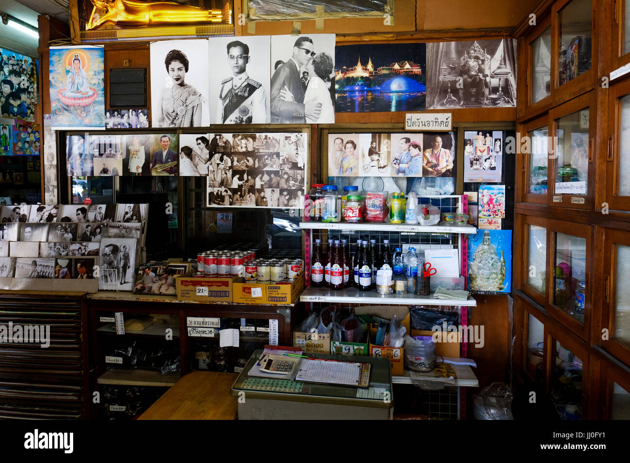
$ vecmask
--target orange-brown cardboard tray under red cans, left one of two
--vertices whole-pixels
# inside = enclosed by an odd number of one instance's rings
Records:
[[[193,277],[185,273],[175,278],[177,298],[201,302],[232,302],[232,286],[241,277]],[[207,291],[205,289],[207,289]]]

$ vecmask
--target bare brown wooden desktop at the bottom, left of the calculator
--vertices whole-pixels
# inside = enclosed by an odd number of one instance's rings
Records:
[[[139,420],[236,420],[230,396],[236,373],[192,372],[181,377]]]

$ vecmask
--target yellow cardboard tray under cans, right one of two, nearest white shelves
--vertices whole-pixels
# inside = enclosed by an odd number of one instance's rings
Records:
[[[270,304],[284,306],[291,304],[304,290],[304,273],[293,283],[263,285],[260,283],[235,282],[232,285],[232,302],[239,304]]]

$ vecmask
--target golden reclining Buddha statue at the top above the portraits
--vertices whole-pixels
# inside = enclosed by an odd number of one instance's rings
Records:
[[[229,3],[221,9],[203,9],[175,2],[91,0],[94,8],[86,30],[106,25],[120,27],[169,26],[195,23],[231,23]],[[105,10],[106,13],[98,13]]]

